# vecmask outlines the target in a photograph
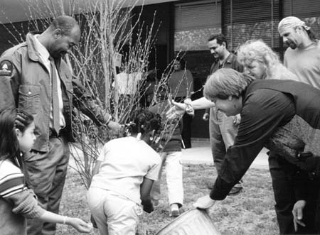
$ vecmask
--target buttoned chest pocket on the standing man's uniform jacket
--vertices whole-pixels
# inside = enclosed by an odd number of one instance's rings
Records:
[[[21,85],[19,87],[18,107],[36,114],[40,106],[40,87]]]

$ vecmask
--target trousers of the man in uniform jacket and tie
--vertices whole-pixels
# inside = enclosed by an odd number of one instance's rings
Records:
[[[23,159],[26,182],[43,209],[59,213],[59,206],[69,162],[70,148],[63,137],[50,138],[47,153],[31,152]],[[55,224],[28,219],[28,235],[55,234]]]

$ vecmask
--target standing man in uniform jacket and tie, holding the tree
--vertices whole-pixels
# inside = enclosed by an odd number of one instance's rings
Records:
[[[70,148],[74,141],[75,105],[98,126],[114,131],[119,124],[97,105],[72,72],[64,55],[80,41],[75,18],[58,16],[43,33],[28,33],[26,42],[6,50],[0,58],[0,112],[19,108],[33,115],[36,141],[23,155],[26,181],[41,207],[58,213]],[[55,234],[55,224],[28,220],[28,234]]]

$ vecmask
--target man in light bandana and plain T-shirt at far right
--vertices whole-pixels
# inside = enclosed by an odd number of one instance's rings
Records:
[[[284,66],[300,82],[320,89],[320,43],[311,28],[299,18],[288,16],[279,22],[278,31],[289,46],[284,53]]]

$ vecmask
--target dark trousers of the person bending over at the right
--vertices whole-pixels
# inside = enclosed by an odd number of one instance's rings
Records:
[[[319,234],[316,229],[319,226],[319,179],[311,179],[306,171],[272,153],[269,155],[269,167],[280,234]],[[306,226],[298,225],[296,232],[292,209],[299,200],[296,197],[297,185],[304,185],[307,196],[302,219]]]

